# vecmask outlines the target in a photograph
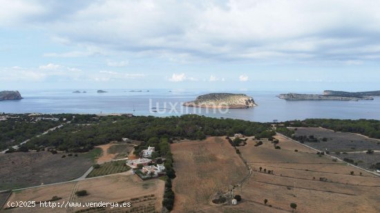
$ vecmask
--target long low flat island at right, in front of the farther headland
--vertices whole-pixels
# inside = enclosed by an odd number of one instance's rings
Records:
[[[332,100],[332,101],[359,101],[359,100],[373,100],[372,97],[354,97],[354,96],[339,96],[339,95],[325,95],[325,94],[297,94],[288,93],[280,94],[278,98],[285,99],[287,101],[320,101],[320,100]]]

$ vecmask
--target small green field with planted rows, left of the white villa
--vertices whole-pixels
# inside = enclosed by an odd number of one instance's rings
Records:
[[[99,168],[94,168],[93,171],[86,176],[86,178],[91,178],[94,176],[104,176],[107,174],[115,174],[120,172],[126,172],[131,170],[131,168],[125,164],[126,161],[113,161],[108,163],[100,164]]]

